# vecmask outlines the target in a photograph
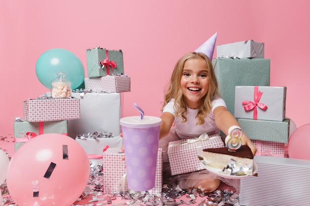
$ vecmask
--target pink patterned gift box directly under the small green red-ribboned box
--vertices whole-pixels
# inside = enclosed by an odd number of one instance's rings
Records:
[[[116,93],[130,91],[130,77],[126,75],[85,78],[84,82],[85,89],[93,90],[93,92]]]

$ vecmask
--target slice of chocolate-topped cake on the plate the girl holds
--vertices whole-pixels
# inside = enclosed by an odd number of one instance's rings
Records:
[[[225,169],[230,167],[235,175],[253,174],[253,154],[248,145],[242,145],[236,151],[228,151],[227,147],[203,150],[203,158],[212,168]]]

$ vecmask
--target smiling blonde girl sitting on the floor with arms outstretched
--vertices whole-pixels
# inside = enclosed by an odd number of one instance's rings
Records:
[[[220,134],[220,130],[227,135],[231,126],[240,126],[220,97],[210,59],[201,52],[189,52],[176,63],[161,111],[159,148],[164,152],[164,165],[168,165],[170,141],[199,137],[205,132]],[[257,149],[246,134],[242,136],[242,143],[248,145],[255,155]],[[164,167],[169,171],[168,166]],[[203,192],[216,190],[221,181],[201,172],[181,174],[173,179],[178,181],[181,189],[194,187]]]

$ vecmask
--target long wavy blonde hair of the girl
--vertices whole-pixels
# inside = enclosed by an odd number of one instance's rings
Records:
[[[183,76],[183,68],[184,64],[189,59],[204,59],[207,63],[208,67],[208,81],[209,81],[209,88],[207,94],[201,99],[201,106],[199,107],[199,111],[197,113],[196,119],[197,124],[204,124],[205,117],[211,111],[212,108],[212,101],[218,97],[220,97],[219,90],[218,90],[218,82],[214,73],[214,69],[212,66],[211,60],[207,57],[206,54],[202,52],[189,52],[186,53],[183,57],[179,59],[179,61],[174,66],[174,70],[171,74],[170,83],[167,85],[166,93],[164,95],[164,103],[161,108],[163,108],[168,104],[171,99],[174,99],[174,108],[176,109],[176,116],[181,117],[181,122],[186,122],[185,112],[187,111],[186,102],[182,93],[181,88],[181,78]]]

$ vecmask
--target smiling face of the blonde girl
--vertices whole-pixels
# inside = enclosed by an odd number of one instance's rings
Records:
[[[186,60],[180,84],[186,105],[191,109],[199,108],[209,88],[207,62],[202,58]]]

